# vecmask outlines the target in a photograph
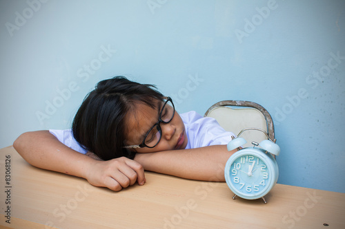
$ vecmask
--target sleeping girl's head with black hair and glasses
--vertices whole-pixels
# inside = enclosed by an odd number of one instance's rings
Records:
[[[172,101],[153,85],[122,76],[102,80],[86,96],[72,131],[79,144],[103,160],[134,158],[136,152],[185,148],[187,144],[184,124]],[[158,144],[149,148],[159,137]]]

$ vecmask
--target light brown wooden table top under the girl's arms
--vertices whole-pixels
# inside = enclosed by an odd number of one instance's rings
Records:
[[[345,228],[344,193],[277,184],[264,204],[232,199],[224,182],[146,179],[113,192],[30,166],[9,146],[0,150],[0,228]]]

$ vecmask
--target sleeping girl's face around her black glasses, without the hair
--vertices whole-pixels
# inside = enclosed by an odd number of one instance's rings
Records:
[[[157,100],[156,109],[144,104],[137,103],[135,105],[135,113],[129,113],[126,117],[126,145],[141,144],[146,134],[158,122],[159,113],[164,102]],[[167,105],[168,106],[168,105]],[[170,111],[173,113],[172,107]],[[165,113],[162,113],[165,115]],[[164,119],[162,117],[162,119]],[[160,122],[161,140],[153,148],[143,147],[132,149],[137,153],[153,153],[159,151],[168,151],[175,149],[185,149],[188,143],[184,122],[182,122],[179,113],[175,111],[172,120],[168,123]],[[148,140],[152,136],[148,135]]]

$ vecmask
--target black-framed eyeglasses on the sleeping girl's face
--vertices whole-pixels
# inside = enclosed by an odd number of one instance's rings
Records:
[[[164,97],[163,107],[161,107],[161,111],[159,112],[159,119],[153,127],[146,133],[145,138],[141,144],[135,144],[131,146],[124,146],[126,149],[137,149],[137,148],[153,148],[157,146],[159,141],[161,140],[161,125],[160,123],[168,123],[174,118],[175,114],[175,106],[172,102],[170,97]]]

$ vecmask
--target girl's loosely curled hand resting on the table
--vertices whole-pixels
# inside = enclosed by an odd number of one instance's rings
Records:
[[[122,188],[132,186],[136,181],[139,185],[145,184],[144,167],[138,162],[127,157],[103,161],[95,158],[96,155],[92,154],[87,154],[95,160],[90,164],[90,169],[85,178],[93,186],[107,187],[119,191]]]

